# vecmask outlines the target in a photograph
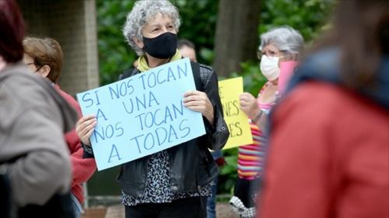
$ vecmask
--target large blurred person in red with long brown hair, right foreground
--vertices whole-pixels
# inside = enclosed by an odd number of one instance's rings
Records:
[[[271,114],[260,218],[389,217],[389,1],[337,4]]]

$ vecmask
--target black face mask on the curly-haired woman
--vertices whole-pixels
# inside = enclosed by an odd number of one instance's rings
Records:
[[[155,38],[143,36],[144,50],[147,54],[159,59],[168,59],[176,54],[177,34],[165,32]]]

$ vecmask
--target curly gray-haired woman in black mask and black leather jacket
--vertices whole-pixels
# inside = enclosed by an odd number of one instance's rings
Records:
[[[124,37],[140,56],[135,69],[120,79],[140,74],[182,58],[177,50],[180,20],[168,0],[139,0],[127,15]],[[196,68],[197,67],[197,68]],[[122,165],[126,218],[206,218],[207,197],[218,173],[209,149],[220,150],[229,137],[223,119],[217,76],[211,67],[192,63],[196,89],[184,94],[183,105],[201,112],[206,135]],[[196,73],[197,72],[197,73]],[[90,140],[95,116],[84,116],[76,125],[86,153],[92,155]]]

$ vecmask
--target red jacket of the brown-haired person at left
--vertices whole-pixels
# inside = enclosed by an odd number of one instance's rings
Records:
[[[77,110],[79,116],[82,116],[81,108],[78,102],[68,93],[62,91],[59,86],[55,86],[58,93]],[[82,183],[88,181],[96,170],[96,162],[94,158],[83,159],[84,150],[80,144],[80,138],[77,136],[75,129],[65,134],[65,140],[69,146],[71,153],[72,165],[72,182],[71,193],[75,195],[78,201],[82,204],[84,202],[84,189]]]

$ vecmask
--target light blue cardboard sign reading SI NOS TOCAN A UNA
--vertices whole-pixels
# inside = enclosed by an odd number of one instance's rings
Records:
[[[205,134],[200,112],[183,106],[195,90],[188,58],[77,94],[83,115],[94,114],[90,137],[97,169],[151,155]]]

